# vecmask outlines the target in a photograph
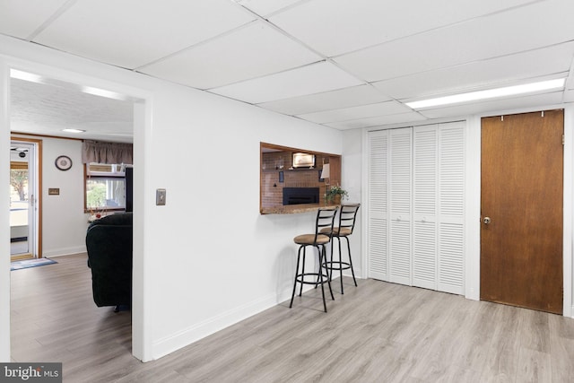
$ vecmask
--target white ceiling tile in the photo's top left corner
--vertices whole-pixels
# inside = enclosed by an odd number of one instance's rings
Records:
[[[0,2],[0,33],[27,39],[67,0],[3,0]]]

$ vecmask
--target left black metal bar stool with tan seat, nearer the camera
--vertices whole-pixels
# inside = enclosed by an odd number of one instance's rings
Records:
[[[326,274],[323,274],[323,266],[326,265],[325,245],[331,241],[331,232],[333,232],[333,225],[335,223],[335,214],[337,213],[338,209],[339,206],[320,207],[317,211],[317,219],[315,222],[315,233],[301,234],[293,239],[296,244],[300,245],[300,247],[297,253],[297,267],[295,268],[295,282],[293,283],[293,292],[291,293],[291,303],[289,304],[290,309],[293,306],[293,298],[295,297],[295,290],[297,290],[298,282],[300,283],[299,296],[301,296],[303,292],[304,283],[315,284],[315,287],[317,287],[318,284],[321,284],[321,293],[323,294],[323,307],[325,308],[325,312],[326,312],[326,301],[325,301],[325,289],[323,287],[324,283],[327,283],[327,285],[329,286],[329,292],[331,292],[331,299],[335,300],[333,290],[331,289],[331,282],[329,281],[328,270],[325,271]],[[318,255],[317,265],[319,267],[317,273],[305,272],[305,251],[308,246],[317,248],[317,255]],[[302,263],[300,262],[301,250],[303,250]],[[299,265],[301,265],[300,271],[299,271]],[[305,277],[313,277],[313,281],[309,281],[309,278],[306,281]]]

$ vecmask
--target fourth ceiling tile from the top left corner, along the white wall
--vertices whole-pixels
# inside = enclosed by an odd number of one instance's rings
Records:
[[[328,62],[303,66],[210,91],[252,104],[359,85],[361,81]]]

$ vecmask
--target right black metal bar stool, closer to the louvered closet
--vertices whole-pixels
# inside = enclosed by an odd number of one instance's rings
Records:
[[[331,260],[326,261],[325,259],[325,267],[327,270],[330,271],[329,273],[329,281],[333,276],[333,270],[339,270],[340,279],[341,279],[341,293],[344,294],[343,291],[343,270],[351,269],[352,273],[352,281],[357,285],[357,280],[355,279],[355,272],[352,269],[352,257],[351,257],[351,244],[349,243],[349,236],[352,234],[352,230],[355,227],[355,220],[357,218],[357,212],[359,212],[359,207],[361,204],[348,204],[348,205],[341,205],[341,211],[339,212],[339,225],[333,228],[331,232],[331,238],[337,239],[339,241],[339,260],[333,260],[333,248],[335,246],[335,240],[331,243]],[[328,229],[323,228],[321,230],[322,233],[328,234]],[[343,254],[341,253],[341,238],[347,239],[347,249],[349,255],[349,262],[343,261]]]

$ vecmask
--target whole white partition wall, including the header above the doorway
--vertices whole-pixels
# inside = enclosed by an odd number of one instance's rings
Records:
[[[341,154],[339,131],[16,39],[0,37],[0,68],[3,60],[145,100],[136,108],[143,114],[135,117],[142,123],[134,139],[136,356],[159,358],[290,296],[292,238],[308,231],[314,216],[259,214],[259,142]],[[8,126],[0,127],[0,143],[7,143]],[[4,161],[7,155],[0,167],[7,184]],[[154,204],[160,187],[167,189],[165,206]],[[0,231],[7,227],[0,221]],[[4,238],[0,248],[8,248]],[[1,289],[3,313],[7,294]],[[9,341],[1,342],[6,360]]]

